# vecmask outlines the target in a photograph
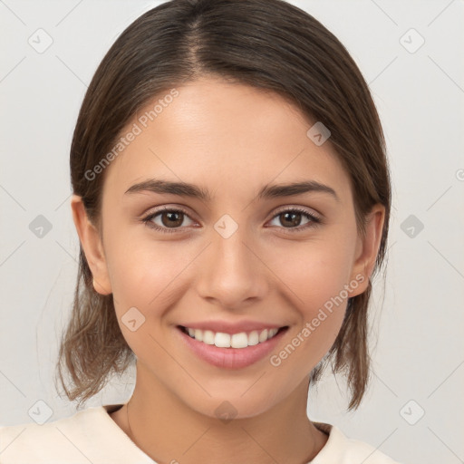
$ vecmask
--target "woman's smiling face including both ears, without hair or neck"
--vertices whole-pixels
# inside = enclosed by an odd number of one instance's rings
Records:
[[[291,395],[332,346],[347,298],[368,284],[382,211],[358,235],[330,139],[316,145],[315,121],[276,94],[206,78],[177,91],[156,119],[143,119],[150,103],[122,131],[140,128],[104,173],[102,242],[76,225],[138,381],[211,417],[222,401],[251,417]],[[277,189],[289,184],[301,185]],[[266,328],[280,330],[254,344]]]

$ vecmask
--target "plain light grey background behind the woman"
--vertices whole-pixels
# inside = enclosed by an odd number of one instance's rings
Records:
[[[50,420],[75,411],[53,386],[79,249],[69,206],[73,127],[103,54],[159,3],[0,1],[2,425],[32,421],[36,401],[51,408]],[[463,2],[291,3],[314,14],[360,66],[393,181],[385,295],[377,279],[372,302],[371,388],[346,414],[344,383],[327,375],[310,393],[309,416],[405,464],[463,462]],[[43,53],[28,43],[45,43],[39,28],[53,39]],[[425,40],[415,53],[420,37],[406,34],[411,28]],[[29,228],[38,215],[52,225],[42,238]],[[415,224],[405,223],[411,215]],[[132,388],[130,372],[87,405],[126,401]]]

